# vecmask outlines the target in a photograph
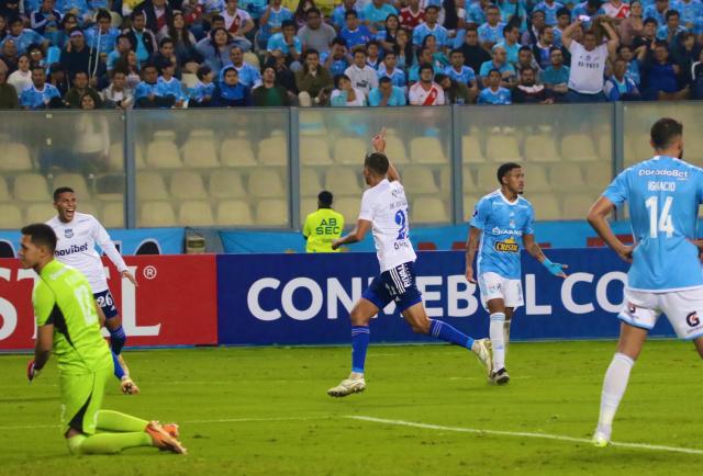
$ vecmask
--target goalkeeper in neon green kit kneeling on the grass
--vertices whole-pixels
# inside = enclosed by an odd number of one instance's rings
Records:
[[[161,426],[101,409],[113,366],[110,348],[100,333],[98,308],[86,276],[54,259],[55,251],[52,227],[34,224],[22,228],[20,260],[40,276],[32,295],[37,331],[27,378],[36,378],[53,350],[58,360],[62,432],[69,451],[110,454],[157,446],[185,454],[177,440],[177,424]]]

